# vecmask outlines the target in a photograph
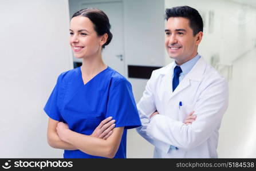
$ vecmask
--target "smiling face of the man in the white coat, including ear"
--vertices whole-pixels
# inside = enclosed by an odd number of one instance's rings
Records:
[[[166,23],[166,50],[176,64],[181,65],[192,59],[198,50],[203,32],[195,36],[190,28],[189,20],[183,17],[171,17]]]

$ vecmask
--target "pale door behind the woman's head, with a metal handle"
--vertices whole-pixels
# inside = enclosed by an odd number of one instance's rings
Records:
[[[93,7],[108,15],[113,38],[103,50],[105,64],[125,76],[123,53],[123,2],[82,2],[80,9]]]

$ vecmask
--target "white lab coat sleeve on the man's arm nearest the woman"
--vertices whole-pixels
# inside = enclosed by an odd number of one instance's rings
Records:
[[[152,72],[152,76],[153,76],[153,72]],[[136,130],[149,143],[154,145],[156,148],[159,148],[163,152],[168,153],[168,150],[170,149],[169,144],[164,143],[163,141],[153,139],[151,136],[148,136],[146,133],[146,130],[149,124],[149,117],[153,112],[156,111],[155,100],[152,93],[152,85],[153,85],[152,76],[151,76],[151,79],[149,79],[147,82],[145,91],[143,92],[143,96],[141,97],[139,103],[137,103],[137,109],[140,115],[141,127],[136,128]]]

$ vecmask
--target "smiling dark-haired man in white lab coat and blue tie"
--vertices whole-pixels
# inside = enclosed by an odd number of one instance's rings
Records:
[[[227,82],[198,54],[203,37],[198,11],[173,7],[166,20],[165,46],[174,62],[152,72],[137,103],[142,123],[137,132],[155,146],[155,158],[216,158]]]

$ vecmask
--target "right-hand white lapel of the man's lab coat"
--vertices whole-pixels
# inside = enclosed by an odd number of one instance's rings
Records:
[[[204,73],[205,68],[206,68],[206,62],[201,57],[198,60],[198,62],[196,62],[195,66],[191,69],[191,71],[188,72],[188,74],[184,77],[182,82],[179,83],[179,85],[178,85],[178,87],[176,87],[175,91],[171,93],[170,99],[172,97],[174,97],[175,95],[177,95],[178,93],[180,93],[181,91],[183,91],[183,89],[190,87],[191,80],[200,82],[203,78],[203,73]],[[172,73],[172,75],[173,75],[173,73]],[[171,88],[172,88],[172,86],[171,86]]]

